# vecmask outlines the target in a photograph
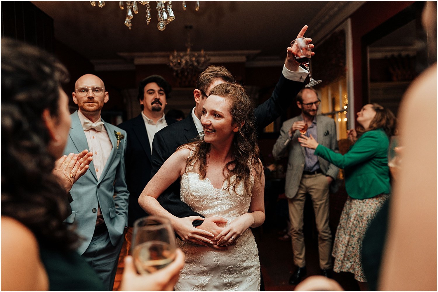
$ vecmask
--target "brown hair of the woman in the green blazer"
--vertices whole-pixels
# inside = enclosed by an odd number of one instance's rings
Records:
[[[376,112],[370,127],[367,130],[361,125],[357,126],[357,134],[361,136],[367,131],[383,129],[388,137],[396,135],[397,118],[390,109],[386,109],[378,103],[371,103],[372,109]]]

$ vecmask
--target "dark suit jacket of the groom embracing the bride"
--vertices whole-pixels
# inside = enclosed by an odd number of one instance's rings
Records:
[[[281,74],[280,80],[272,92],[270,99],[254,109],[255,125],[262,129],[272,123],[281,114],[286,113],[291,102],[303,87],[302,82],[291,81]],[[179,146],[194,141],[198,138],[198,131],[191,114],[182,121],[174,123],[155,134],[152,153],[152,172],[155,175],[161,165],[172,155]],[[180,182],[174,182],[159,198],[159,203],[172,215],[183,218],[188,216],[201,216],[191,210],[187,204],[180,200]],[[203,217],[203,216],[202,216]],[[195,220],[194,226],[201,225]]]

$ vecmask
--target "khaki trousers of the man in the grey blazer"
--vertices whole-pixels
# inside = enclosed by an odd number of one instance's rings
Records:
[[[292,199],[288,199],[293,262],[298,267],[306,265],[303,235],[303,213],[306,193],[312,199],[315,212],[316,228],[318,229],[319,266],[324,270],[329,269],[332,267],[332,233],[329,226],[329,182],[322,173],[303,174],[297,194]]]

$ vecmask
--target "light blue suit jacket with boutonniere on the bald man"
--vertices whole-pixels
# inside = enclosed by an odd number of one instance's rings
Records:
[[[125,182],[126,132],[110,123],[104,123],[104,127],[113,144],[113,149],[102,175],[98,180],[93,162],[91,162],[88,171],[74,183],[70,190],[71,197],[73,197],[73,202],[70,203],[72,214],[64,222],[74,223],[75,231],[83,238],[77,250],[79,254],[84,253],[90,245],[96,225],[97,212],[95,211],[98,205],[102,210],[109,238],[114,246],[120,240],[127,225],[129,192]],[[125,135],[118,149],[114,130]],[[84,149],[90,148],[78,117],[78,111],[76,111],[71,114],[71,129],[64,154],[79,153]]]

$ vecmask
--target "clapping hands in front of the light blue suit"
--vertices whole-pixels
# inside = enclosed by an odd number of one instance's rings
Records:
[[[67,193],[73,184],[87,172],[89,164],[93,160],[92,155],[93,152],[88,152],[85,149],[79,154],[63,155],[55,162],[53,174],[57,176]]]

